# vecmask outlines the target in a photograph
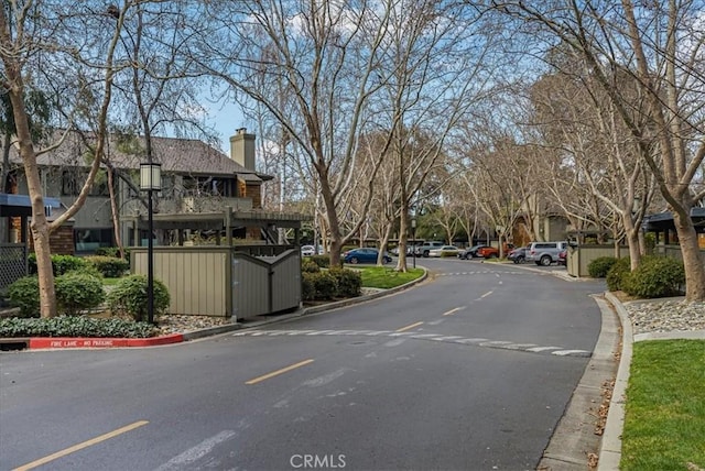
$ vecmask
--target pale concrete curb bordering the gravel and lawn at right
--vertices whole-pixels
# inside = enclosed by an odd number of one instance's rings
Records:
[[[609,403],[607,424],[605,425],[597,465],[598,471],[612,471],[619,470],[619,461],[621,460],[621,432],[625,425],[625,402],[627,385],[629,384],[633,333],[631,320],[625,306],[609,292],[605,294],[605,297],[615,306],[622,328],[621,358],[617,377],[615,379],[612,397]]]

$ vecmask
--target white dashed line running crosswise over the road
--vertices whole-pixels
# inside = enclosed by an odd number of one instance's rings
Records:
[[[589,358],[592,352],[587,350],[566,349],[556,346],[538,346],[535,343],[518,343],[509,340],[490,340],[485,338],[465,338],[459,336],[446,336],[443,333],[417,333],[417,332],[393,332],[390,330],[243,330],[232,333],[232,337],[278,337],[278,336],[368,336],[368,337],[391,337],[408,338],[416,340],[433,340],[443,343],[460,343],[465,346],[477,346],[489,349],[523,351],[538,354],[552,354],[555,357],[579,357]]]

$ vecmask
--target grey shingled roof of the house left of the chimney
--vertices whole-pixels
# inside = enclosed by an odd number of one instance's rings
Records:
[[[57,138],[58,138],[57,132]],[[143,136],[109,138],[106,157],[117,168],[139,168],[147,160]],[[37,164],[42,166],[88,166],[85,158],[86,146],[78,133],[70,133],[59,147],[41,154]],[[243,167],[221,151],[195,139],[152,138],[153,162],[162,164],[162,172],[187,175],[232,176],[245,180],[269,180],[270,175]],[[17,149],[12,149],[10,161],[21,164]]]

